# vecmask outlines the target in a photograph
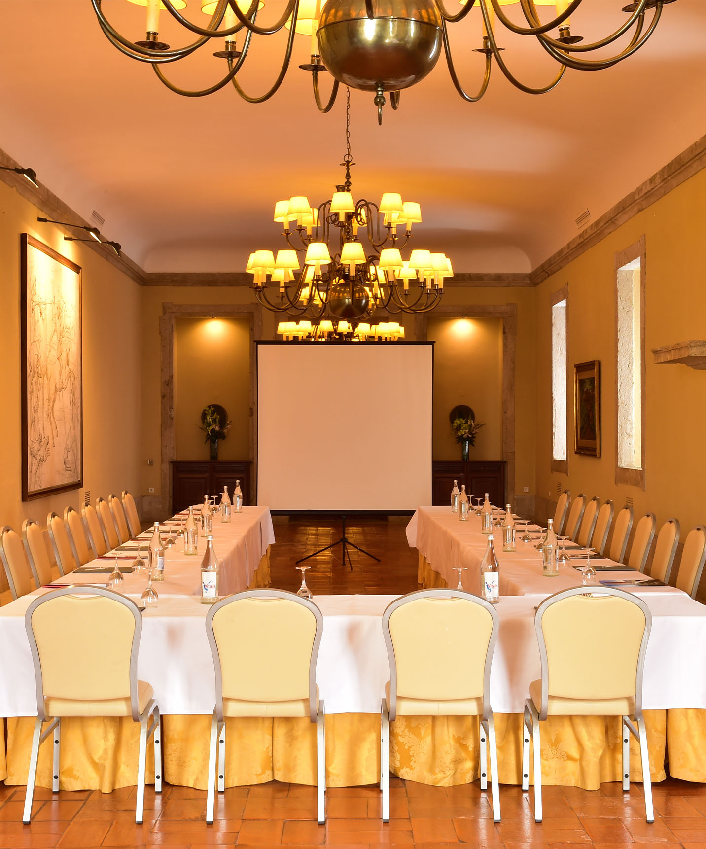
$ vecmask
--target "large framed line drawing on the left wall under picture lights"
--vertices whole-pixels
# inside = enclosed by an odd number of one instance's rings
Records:
[[[83,485],[81,267],[20,243],[22,500]]]

